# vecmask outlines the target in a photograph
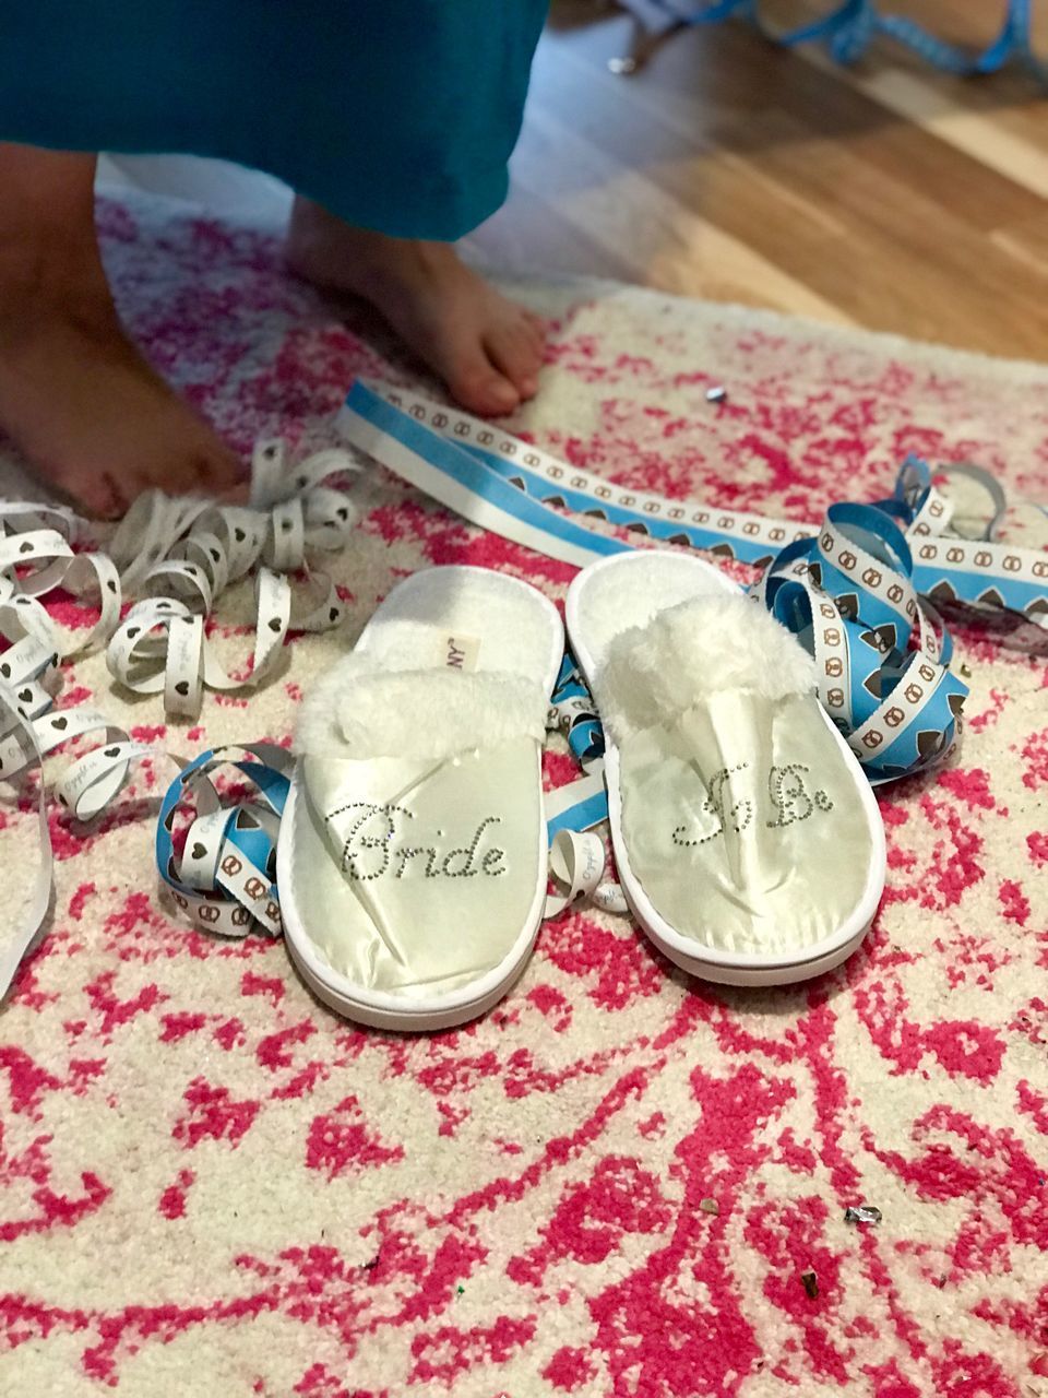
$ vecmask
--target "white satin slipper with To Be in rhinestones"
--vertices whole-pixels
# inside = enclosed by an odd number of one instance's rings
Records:
[[[876,913],[885,830],[802,646],[685,554],[594,563],[566,617],[605,724],[615,860],[640,925],[725,984],[840,965]]]

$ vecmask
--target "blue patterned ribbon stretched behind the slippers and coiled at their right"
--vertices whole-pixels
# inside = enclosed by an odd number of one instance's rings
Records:
[[[632,547],[601,533],[604,524],[760,566],[753,596],[813,653],[820,699],[873,783],[925,770],[956,741],[967,686],[950,670],[953,646],[935,603],[1048,626],[1048,555],[995,540],[1003,493],[971,467],[953,470],[980,477],[998,506],[978,538],[947,533],[953,503],[915,457],[887,500],[833,505],[816,533],[613,485],[401,389],[358,382],[340,426],[351,445],[465,519],[577,566]],[[566,663],[562,682],[570,685],[572,668]],[[573,749],[594,742],[595,728],[580,726]]]

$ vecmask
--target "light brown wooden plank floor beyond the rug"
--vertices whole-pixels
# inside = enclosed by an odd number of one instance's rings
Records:
[[[973,41],[1002,11],[910,6]],[[732,22],[616,77],[629,31],[601,0],[555,4],[510,201],[471,239],[488,259],[1048,358],[1048,98],[1028,75],[945,78],[887,42],[841,70]]]

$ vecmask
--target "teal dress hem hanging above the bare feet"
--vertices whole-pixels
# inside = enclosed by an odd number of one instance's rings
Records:
[[[236,161],[359,226],[454,240],[506,199],[545,11],[14,0],[0,20],[0,140]]]

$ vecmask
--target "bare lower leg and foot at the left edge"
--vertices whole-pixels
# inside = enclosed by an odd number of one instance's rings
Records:
[[[127,338],[94,224],[95,157],[0,144],[0,428],[96,514],[222,492],[235,453]]]

